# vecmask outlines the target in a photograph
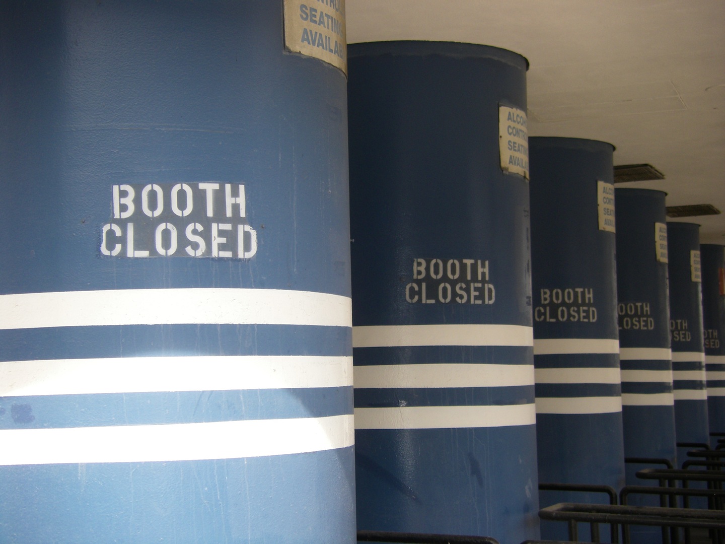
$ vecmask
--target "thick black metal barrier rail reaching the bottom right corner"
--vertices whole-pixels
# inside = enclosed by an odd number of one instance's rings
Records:
[[[722,543],[725,529],[725,512],[688,508],[663,508],[657,506],[621,506],[603,504],[558,503],[539,511],[539,517],[551,521],[568,522],[570,540],[578,540],[579,522],[592,527],[592,541],[599,542],[599,524],[631,524],[655,527],[696,527],[717,529],[716,542]],[[629,544],[624,532],[623,542]],[[626,539],[626,540],[625,540]]]

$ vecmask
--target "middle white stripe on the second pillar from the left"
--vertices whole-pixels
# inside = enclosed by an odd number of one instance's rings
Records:
[[[534,365],[428,363],[355,366],[355,388],[515,387],[534,384]]]

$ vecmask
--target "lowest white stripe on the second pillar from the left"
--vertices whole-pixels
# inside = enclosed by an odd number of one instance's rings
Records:
[[[534,404],[355,408],[355,429],[464,429],[535,423]]]

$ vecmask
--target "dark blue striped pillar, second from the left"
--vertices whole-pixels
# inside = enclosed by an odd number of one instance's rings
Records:
[[[357,527],[536,538],[526,59],[349,51]]]

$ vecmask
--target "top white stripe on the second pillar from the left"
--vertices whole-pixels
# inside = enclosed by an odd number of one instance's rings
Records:
[[[352,327],[353,347],[531,346],[534,329],[521,325],[382,325]]]

